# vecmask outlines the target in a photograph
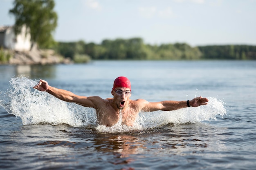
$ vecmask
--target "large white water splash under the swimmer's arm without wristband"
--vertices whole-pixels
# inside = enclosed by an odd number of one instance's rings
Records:
[[[0,101],[9,114],[21,118],[23,125],[66,123],[74,127],[96,122],[94,110],[58,100],[54,96],[33,89],[38,82],[25,77],[12,78],[11,89],[5,96],[9,101]]]

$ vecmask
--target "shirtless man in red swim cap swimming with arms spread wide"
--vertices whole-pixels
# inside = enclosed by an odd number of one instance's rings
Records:
[[[49,86],[47,81],[44,80],[40,80],[38,85],[35,85],[33,88],[48,92],[66,102],[94,108],[97,114],[97,122],[99,125],[106,126],[115,125],[119,120],[120,114],[122,116],[122,124],[132,126],[140,111],[178,110],[184,107],[206,105],[209,101],[207,98],[202,98],[201,96],[191,101],[148,102],[144,99],[131,100],[131,83],[128,78],[122,76],[117,77],[114,81],[111,91],[113,98],[106,99],[99,96],[78,96],[67,90]]]

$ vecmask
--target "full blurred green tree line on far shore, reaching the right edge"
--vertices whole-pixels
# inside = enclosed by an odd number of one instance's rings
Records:
[[[53,48],[65,58],[77,60],[255,60],[256,46],[211,45],[191,47],[186,43],[148,45],[141,38],[93,42],[57,42]]]

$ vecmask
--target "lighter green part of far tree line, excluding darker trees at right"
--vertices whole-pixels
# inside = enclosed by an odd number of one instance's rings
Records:
[[[198,47],[186,43],[147,45],[141,38],[103,40],[101,44],[58,42],[53,49],[65,58],[84,55],[92,60],[186,60],[202,56]]]

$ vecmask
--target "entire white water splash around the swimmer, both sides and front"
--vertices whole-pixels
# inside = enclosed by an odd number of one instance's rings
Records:
[[[4,94],[9,101],[0,100],[0,105],[9,114],[20,117],[23,125],[66,123],[74,127],[97,126],[96,130],[99,132],[127,132],[157,128],[169,123],[179,125],[216,120],[217,115],[226,114],[225,103],[209,97],[208,105],[168,112],[141,112],[132,127],[122,125],[121,121],[112,127],[106,127],[96,124],[97,117],[94,109],[67,103],[46,92],[33,89],[32,87],[37,83],[25,77],[12,78],[11,89]]]

